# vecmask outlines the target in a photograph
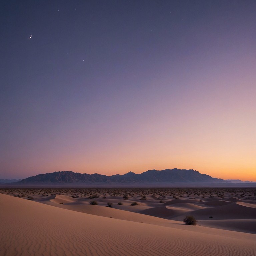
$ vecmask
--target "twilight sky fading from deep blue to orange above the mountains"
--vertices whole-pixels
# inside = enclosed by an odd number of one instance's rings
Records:
[[[249,0],[1,1],[0,178],[256,181],[255,13]]]

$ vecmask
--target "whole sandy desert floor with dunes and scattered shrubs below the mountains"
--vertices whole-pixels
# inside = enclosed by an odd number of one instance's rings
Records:
[[[1,256],[255,256],[256,189],[0,189],[0,223]]]

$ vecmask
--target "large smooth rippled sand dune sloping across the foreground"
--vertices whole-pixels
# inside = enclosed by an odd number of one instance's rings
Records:
[[[1,255],[255,255],[254,234],[106,218],[3,194],[0,204]]]

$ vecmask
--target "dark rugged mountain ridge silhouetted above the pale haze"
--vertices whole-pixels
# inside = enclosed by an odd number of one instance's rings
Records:
[[[223,179],[213,178],[207,174],[201,174],[195,170],[165,169],[148,170],[141,174],[128,172],[112,176],[98,173],[86,174],[73,171],[59,171],[53,173],[38,174],[23,179],[17,183],[224,183]]]

